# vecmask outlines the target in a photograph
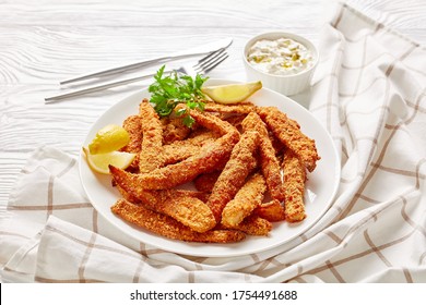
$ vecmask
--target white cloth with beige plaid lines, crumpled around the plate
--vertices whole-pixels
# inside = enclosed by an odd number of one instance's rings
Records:
[[[188,257],[125,237],[43,147],[0,222],[1,276],[25,282],[426,282],[426,50],[341,4],[324,25],[310,111],[342,178],[309,231],[237,258]]]

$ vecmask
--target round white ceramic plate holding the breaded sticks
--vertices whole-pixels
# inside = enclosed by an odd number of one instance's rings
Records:
[[[235,82],[209,80],[208,85]],[[141,99],[149,96],[147,89],[144,89],[129,96],[108,109],[92,126],[84,142],[84,146],[91,143],[96,132],[103,126],[110,123],[121,125],[127,117],[138,113]],[[340,166],[333,141],[310,112],[283,95],[262,88],[250,100],[259,106],[276,106],[287,113],[289,118],[297,120],[301,131],[316,141],[318,154],[321,159],[318,161],[316,170],[308,174],[305,198],[307,218],[300,223],[274,223],[269,236],[248,236],[244,241],[233,244],[187,243],[169,240],[131,225],[115,216],[110,211],[110,206],[115,204],[120,195],[111,186],[110,176],[94,173],[88,168],[84,157],[80,155],[81,181],[92,205],[105,219],[129,236],[165,251],[192,256],[232,257],[247,255],[273,248],[303,234],[323,216],[338,190]]]

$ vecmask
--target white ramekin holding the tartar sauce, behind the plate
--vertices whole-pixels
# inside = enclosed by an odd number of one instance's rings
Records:
[[[293,39],[304,45],[309,50],[311,50],[313,54],[312,66],[293,75],[269,74],[253,68],[247,60],[247,54],[251,46],[260,39],[277,39],[277,38]],[[319,59],[318,50],[311,41],[309,41],[308,39],[299,35],[295,35],[286,32],[269,32],[269,33],[257,35],[247,41],[242,50],[242,60],[246,66],[248,81],[261,81],[264,87],[279,91],[286,96],[296,95],[309,87],[313,71],[318,65],[318,59]]]

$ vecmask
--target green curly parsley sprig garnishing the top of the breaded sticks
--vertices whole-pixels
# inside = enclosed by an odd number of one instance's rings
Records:
[[[170,115],[178,103],[185,102],[189,109],[204,110],[204,94],[201,87],[208,77],[197,74],[193,78],[189,75],[180,75],[171,72],[164,73],[163,65],[154,75],[155,82],[150,85],[150,101],[154,103],[154,109],[159,117]],[[194,120],[188,113],[188,108],[180,108],[175,113],[182,118],[184,124],[191,127]]]

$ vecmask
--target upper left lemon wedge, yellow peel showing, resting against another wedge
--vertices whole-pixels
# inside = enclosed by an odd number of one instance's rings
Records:
[[[91,155],[118,150],[130,142],[129,133],[121,126],[109,124],[99,130],[88,145]]]

